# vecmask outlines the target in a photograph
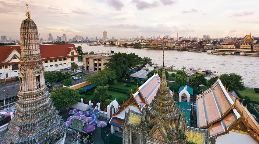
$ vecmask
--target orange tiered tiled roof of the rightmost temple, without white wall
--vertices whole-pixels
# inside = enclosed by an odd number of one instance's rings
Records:
[[[239,121],[255,133],[259,133],[257,121],[246,106],[227,91],[220,79],[211,88],[196,96],[196,104],[197,126],[198,128],[210,127],[211,137],[227,133]]]

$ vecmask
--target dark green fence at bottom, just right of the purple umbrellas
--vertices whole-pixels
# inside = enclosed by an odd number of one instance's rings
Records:
[[[101,128],[101,138],[105,144],[122,144],[122,138],[113,134],[109,134],[107,137],[104,132],[108,129],[107,127]]]

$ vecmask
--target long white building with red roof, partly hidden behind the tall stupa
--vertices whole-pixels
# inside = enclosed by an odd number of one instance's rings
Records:
[[[0,78],[10,79],[18,76],[20,66],[19,45],[0,46]],[[41,59],[45,70],[52,71],[71,67],[71,63],[78,63],[78,52],[74,44],[40,45]]]

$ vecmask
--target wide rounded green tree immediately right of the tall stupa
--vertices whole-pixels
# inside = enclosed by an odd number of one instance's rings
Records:
[[[67,105],[73,105],[80,100],[78,91],[62,87],[51,92],[50,98],[57,109],[63,108]]]

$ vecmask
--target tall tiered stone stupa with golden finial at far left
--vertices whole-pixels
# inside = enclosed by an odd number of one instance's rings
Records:
[[[25,15],[20,29],[19,100],[1,143],[64,143],[64,121],[46,91],[37,26],[28,9]]]

